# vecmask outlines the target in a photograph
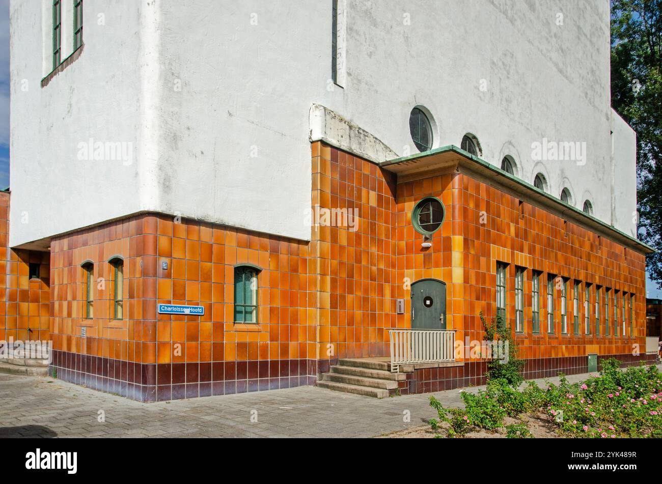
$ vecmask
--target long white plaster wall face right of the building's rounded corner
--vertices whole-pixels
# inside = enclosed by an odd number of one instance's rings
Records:
[[[307,238],[310,105],[408,155],[408,116],[420,104],[438,126],[435,146],[472,132],[483,159],[512,155],[531,183],[540,169],[532,143],[586,143],[585,165],[545,161],[541,170],[552,194],[567,186],[575,206],[588,198],[611,223],[608,1],[394,5],[347,2],[346,79],[330,91],[330,1],[164,3],[166,211]],[[170,87],[177,79],[181,91]],[[634,175],[632,157],[618,163]],[[634,188],[623,195],[632,212]]]

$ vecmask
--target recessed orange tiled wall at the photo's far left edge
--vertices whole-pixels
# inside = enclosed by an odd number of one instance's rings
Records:
[[[48,341],[50,255],[7,247],[9,200],[0,192],[0,341]],[[29,278],[30,262],[40,264],[39,278]]]

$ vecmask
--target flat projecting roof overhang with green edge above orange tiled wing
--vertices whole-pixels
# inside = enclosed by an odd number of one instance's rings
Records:
[[[538,206],[563,218],[563,220],[589,229],[597,235],[607,237],[624,247],[643,254],[656,252],[653,247],[616,229],[616,227],[561,202],[559,198],[538,190],[532,184],[502,171],[457,146],[444,146],[425,153],[385,161],[380,163],[380,166],[397,174],[401,181],[422,179],[438,173],[448,173],[449,171],[466,173],[491,186],[510,192],[523,202]]]

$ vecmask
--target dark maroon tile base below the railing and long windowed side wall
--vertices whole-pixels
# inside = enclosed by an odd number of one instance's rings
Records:
[[[598,369],[600,362],[609,358],[616,358],[622,362],[621,366],[636,366],[641,362],[655,364],[657,355],[641,354],[613,354],[598,356]],[[559,373],[565,375],[577,375],[588,373],[588,357],[573,356],[569,358],[538,358],[525,360],[523,376],[525,380],[536,378],[552,378]],[[464,366],[451,368],[428,368],[426,370],[414,370],[407,374],[407,379],[399,382],[397,390],[391,390],[391,394],[399,392],[401,395],[414,393],[434,393],[436,391],[452,390],[469,386],[485,385],[486,362],[467,362]]]

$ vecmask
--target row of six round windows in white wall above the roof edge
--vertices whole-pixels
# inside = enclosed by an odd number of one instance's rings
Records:
[[[433,146],[433,134],[432,134],[432,125],[428,116],[423,112],[421,108],[414,108],[409,116],[409,130],[412,136],[412,141],[416,145],[418,151],[424,153],[425,151],[430,151]],[[466,151],[470,155],[479,156],[481,153],[480,143],[478,139],[473,136],[473,134],[465,134],[460,143],[460,147],[463,151]],[[510,155],[506,155],[501,160],[501,169],[502,171],[508,173],[512,177],[517,175],[516,173],[517,163],[514,158]],[[542,173],[536,174],[534,177],[534,186],[542,192],[547,192],[547,179]],[[572,205],[573,198],[570,193],[569,188],[563,188],[561,190],[561,202]],[[587,215],[593,214],[593,204],[590,200],[584,202],[583,211]]]

